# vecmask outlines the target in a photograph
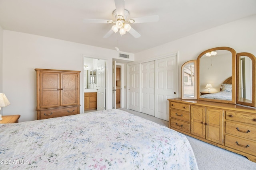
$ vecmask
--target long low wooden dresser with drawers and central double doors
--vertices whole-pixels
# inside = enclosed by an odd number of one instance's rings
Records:
[[[171,129],[256,162],[256,109],[181,98],[168,101]]]

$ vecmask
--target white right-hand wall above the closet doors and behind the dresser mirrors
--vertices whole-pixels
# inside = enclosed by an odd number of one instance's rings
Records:
[[[136,53],[135,61],[148,60],[150,58],[155,58],[178,51],[178,96],[180,97],[180,69],[183,63],[197,59],[200,53],[214,47],[231,47],[236,51],[236,53],[248,52],[256,56],[255,30],[256,15],[214,27],[194,35]]]

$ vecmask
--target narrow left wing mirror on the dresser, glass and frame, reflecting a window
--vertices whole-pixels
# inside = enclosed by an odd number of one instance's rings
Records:
[[[197,99],[196,62],[196,60],[188,61],[181,67],[182,99]]]

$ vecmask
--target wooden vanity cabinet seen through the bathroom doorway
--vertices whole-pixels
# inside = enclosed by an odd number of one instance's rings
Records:
[[[97,92],[84,93],[84,110],[97,109]]]

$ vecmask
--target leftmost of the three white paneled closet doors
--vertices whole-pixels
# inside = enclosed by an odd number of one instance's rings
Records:
[[[140,112],[140,64],[129,65],[128,107]]]

